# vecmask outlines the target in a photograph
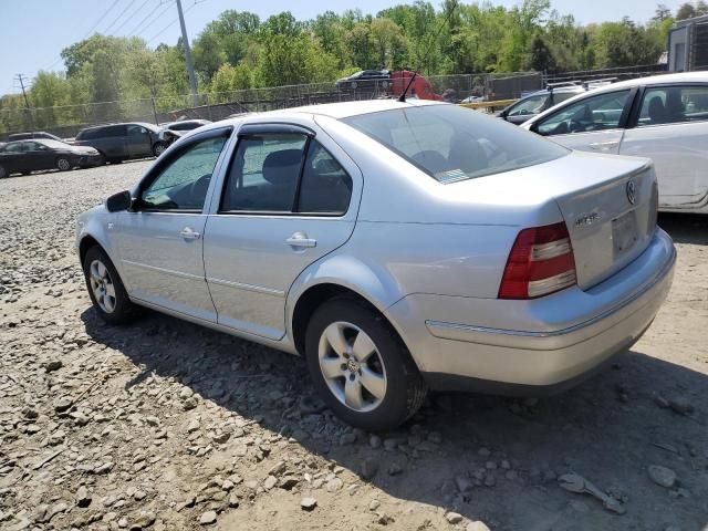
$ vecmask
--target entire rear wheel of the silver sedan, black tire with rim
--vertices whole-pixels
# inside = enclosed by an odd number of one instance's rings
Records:
[[[393,429],[410,418],[426,385],[391,324],[367,304],[333,299],[308,323],[305,357],[313,384],[345,423]]]

